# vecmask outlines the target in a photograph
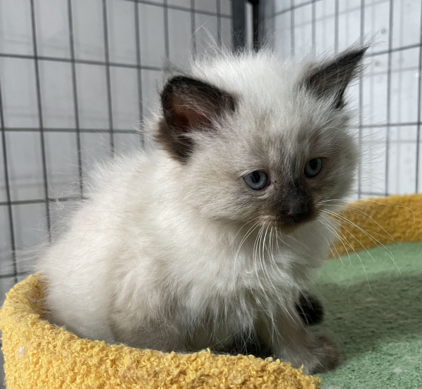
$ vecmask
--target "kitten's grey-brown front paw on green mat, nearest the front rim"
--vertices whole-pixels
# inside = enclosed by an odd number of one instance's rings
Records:
[[[328,336],[315,336],[312,348],[314,360],[310,366],[304,366],[305,373],[323,373],[324,371],[334,370],[340,364],[340,354],[337,345]]]

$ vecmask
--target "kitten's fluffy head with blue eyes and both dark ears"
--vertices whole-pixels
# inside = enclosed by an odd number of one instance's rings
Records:
[[[345,90],[366,47],[301,68],[262,52],[196,64],[161,92],[155,141],[203,217],[284,231],[350,192],[358,151]]]

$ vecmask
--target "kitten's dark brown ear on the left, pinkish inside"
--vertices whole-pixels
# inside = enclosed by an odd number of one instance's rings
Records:
[[[195,146],[189,134],[214,131],[217,120],[234,112],[236,101],[234,96],[206,82],[177,76],[162,90],[161,105],[164,120],[155,141],[173,158],[186,162]]]

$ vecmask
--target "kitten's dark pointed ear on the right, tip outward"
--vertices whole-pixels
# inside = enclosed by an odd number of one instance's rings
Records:
[[[349,49],[331,60],[309,66],[301,86],[318,98],[332,98],[333,108],[343,108],[345,90],[362,70],[362,59],[367,49],[368,46]]]

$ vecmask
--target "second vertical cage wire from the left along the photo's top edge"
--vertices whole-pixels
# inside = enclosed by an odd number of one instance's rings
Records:
[[[68,0],[68,23],[69,23],[69,46],[70,63],[72,64],[72,89],[73,89],[73,108],[75,110],[76,126],[76,146],[77,146],[77,169],[79,172],[79,193],[84,196],[83,173],[82,173],[82,151],[81,151],[81,132],[79,125],[79,104],[77,101],[77,82],[76,82],[76,63],[75,63],[75,42],[73,40],[73,18],[72,1]]]

